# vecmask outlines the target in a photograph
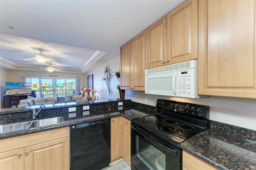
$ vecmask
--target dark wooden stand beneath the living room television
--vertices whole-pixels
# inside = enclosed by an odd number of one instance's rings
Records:
[[[20,100],[27,99],[28,95],[36,97],[35,94],[4,96],[4,108],[18,107]]]

